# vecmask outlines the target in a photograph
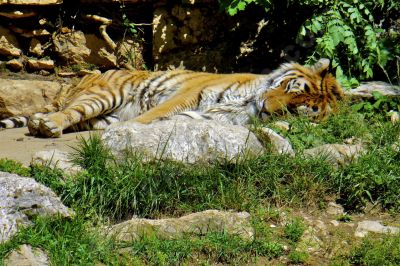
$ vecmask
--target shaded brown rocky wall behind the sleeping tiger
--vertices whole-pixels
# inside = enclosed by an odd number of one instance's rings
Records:
[[[215,0],[0,0],[0,60],[10,71],[64,76],[111,68],[269,72],[306,54],[295,37],[307,15],[285,20],[249,7],[230,17]]]

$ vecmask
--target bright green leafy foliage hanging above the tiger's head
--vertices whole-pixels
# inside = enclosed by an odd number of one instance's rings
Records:
[[[220,1],[230,15],[252,3],[267,12],[277,12],[273,7],[278,0]],[[313,15],[299,25],[297,38],[299,43],[304,37],[314,40],[308,59],[310,63],[320,57],[330,58],[337,77],[346,87],[357,84],[352,77],[370,79],[375,71],[394,81],[399,72],[400,36],[399,32],[391,31],[386,25],[390,23],[392,14],[399,10],[399,1],[287,0],[287,5],[299,10],[314,10]]]

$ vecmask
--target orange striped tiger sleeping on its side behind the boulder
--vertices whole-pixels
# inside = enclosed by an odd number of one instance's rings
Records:
[[[31,135],[54,138],[65,129],[151,123],[177,114],[244,125],[253,116],[302,107],[323,118],[343,97],[328,67],[321,59],[310,67],[286,63],[267,75],[109,70],[85,76],[40,113],[4,119],[0,127],[28,125]]]

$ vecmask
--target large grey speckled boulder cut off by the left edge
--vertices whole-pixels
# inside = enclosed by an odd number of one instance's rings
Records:
[[[34,179],[0,172],[0,243],[30,225],[36,215],[71,217],[74,213]]]

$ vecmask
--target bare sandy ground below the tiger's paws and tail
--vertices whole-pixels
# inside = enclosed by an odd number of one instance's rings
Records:
[[[88,137],[89,132],[64,134],[57,139],[35,138],[28,135],[27,128],[0,131],[0,158],[9,158],[28,166],[33,154],[38,151],[59,149],[72,151],[80,137]]]

